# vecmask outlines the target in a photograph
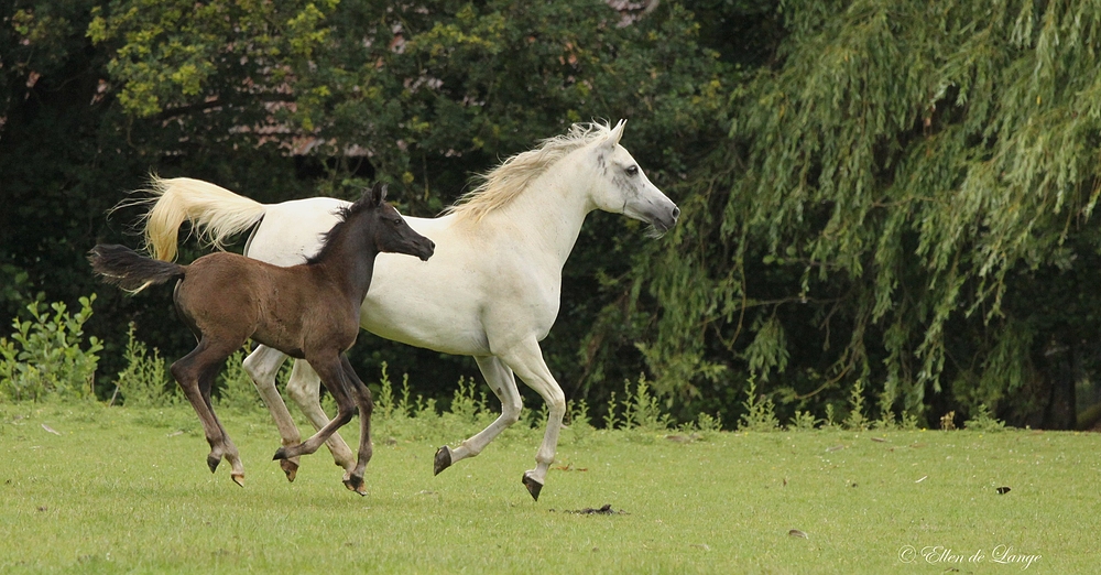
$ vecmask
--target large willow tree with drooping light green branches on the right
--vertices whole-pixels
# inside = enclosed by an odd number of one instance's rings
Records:
[[[1098,367],[1101,3],[788,2],[783,26],[637,265],[664,388],[756,373],[802,408],[872,381],[914,414],[1072,426]]]

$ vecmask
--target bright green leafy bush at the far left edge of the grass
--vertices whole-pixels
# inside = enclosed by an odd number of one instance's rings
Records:
[[[75,314],[63,302],[52,303],[52,316],[34,302],[26,307],[32,319],[14,319],[11,340],[0,338],[2,397],[12,401],[92,397],[97,354],[103,346],[95,336],[85,343],[84,324],[91,317],[95,301],[96,294],[80,297],[80,311]]]

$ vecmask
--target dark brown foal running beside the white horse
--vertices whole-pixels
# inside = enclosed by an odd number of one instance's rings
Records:
[[[176,311],[198,338],[198,346],[172,365],[172,376],[195,408],[214,471],[222,457],[231,477],[244,485],[244,466],[233,442],[214,413],[210,389],[218,370],[251,337],[309,365],[337,401],[337,416],[298,445],[280,447],[275,459],[316,452],[358,406],[360,445],[356,468],[345,485],[360,495],[371,459],[371,391],[359,379],[345,351],[359,334],[360,305],[371,285],[374,259],[396,252],[427,260],[435,246],[413,231],[393,206],[385,186],[375,186],[344,209],[341,221],[326,236],[320,251],[306,263],[280,268],[236,253],[204,256],[190,265],[152,260],[124,246],[96,246],[89,261],[105,281],[127,290],[179,280],[173,293]]]

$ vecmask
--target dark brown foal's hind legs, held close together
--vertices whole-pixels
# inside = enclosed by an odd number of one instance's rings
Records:
[[[204,434],[207,443],[210,444],[210,454],[207,455],[207,466],[210,468],[210,473],[218,468],[218,464],[225,456],[229,459],[230,477],[233,482],[243,487],[244,466],[241,464],[237,446],[229,438],[226,428],[222,427],[210,405],[210,388],[214,386],[214,379],[231,352],[232,350],[226,352],[212,348],[204,338],[199,341],[198,347],[173,364],[170,370],[172,377],[184,390],[184,395],[190,402],[195,413],[199,416],[199,422],[203,423]]]

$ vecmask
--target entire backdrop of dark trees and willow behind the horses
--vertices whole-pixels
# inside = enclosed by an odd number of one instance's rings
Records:
[[[97,290],[84,261],[149,172],[262,202],[380,180],[432,216],[569,123],[683,209],[596,214],[544,348],[571,398],[646,373],[682,416],[1094,403],[1101,2],[17,0],[0,7],[0,311]],[[185,258],[204,248],[187,245]],[[167,300],[99,290],[173,356]],[[473,366],[362,338],[428,395]],[[101,373],[108,386],[110,369]],[[872,415],[877,415],[872,413]]]

